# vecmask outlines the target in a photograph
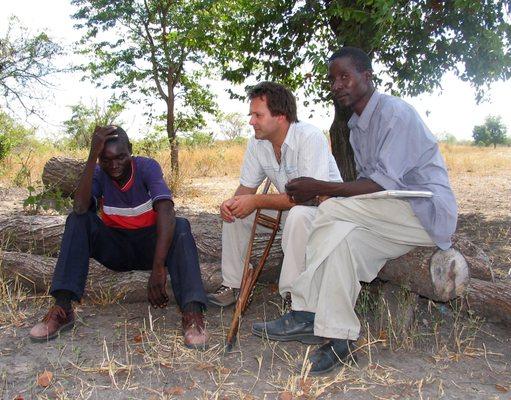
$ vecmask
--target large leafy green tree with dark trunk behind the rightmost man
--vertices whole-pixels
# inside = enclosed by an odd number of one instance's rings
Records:
[[[417,95],[440,86],[451,71],[487,85],[511,77],[509,0],[238,0],[226,17],[229,34],[218,54],[223,77],[248,76],[303,88],[309,102],[331,102],[327,59],[357,46],[374,61],[394,94]],[[378,77],[376,77],[378,79]],[[334,102],[332,149],[345,180],[355,178],[347,121]]]

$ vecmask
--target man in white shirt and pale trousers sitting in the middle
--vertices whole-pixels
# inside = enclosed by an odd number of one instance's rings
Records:
[[[282,215],[284,260],[279,280],[279,292],[286,298],[294,280],[305,270],[305,247],[317,207],[297,206],[286,195],[285,184],[298,177],[342,181],[328,141],[318,128],[298,122],[296,100],[287,88],[261,82],[248,91],[248,98],[255,137],[248,142],[240,185],[220,206],[224,221],[223,282],[208,295],[208,301],[220,307],[236,302],[255,210],[286,210]],[[256,194],[266,177],[278,194]]]

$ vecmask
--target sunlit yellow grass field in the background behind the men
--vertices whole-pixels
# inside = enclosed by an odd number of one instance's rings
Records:
[[[162,166],[165,179],[177,191],[194,178],[232,177],[239,175],[245,144],[217,142],[208,147],[181,147],[180,170],[176,177],[170,171],[170,151],[139,151],[136,154],[155,158]],[[511,147],[476,147],[441,144],[441,151],[451,175],[470,173],[480,176],[511,171]],[[51,146],[24,149],[9,155],[0,167],[3,187],[37,187],[41,185],[44,164],[51,157],[85,159],[87,150],[62,150]]]

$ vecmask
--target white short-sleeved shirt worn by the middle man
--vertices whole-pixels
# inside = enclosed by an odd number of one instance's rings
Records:
[[[249,140],[241,167],[241,185],[257,188],[268,177],[279,193],[285,193],[286,183],[301,176],[342,182],[328,141],[318,128],[305,122],[292,123],[282,144],[280,164],[269,140]]]

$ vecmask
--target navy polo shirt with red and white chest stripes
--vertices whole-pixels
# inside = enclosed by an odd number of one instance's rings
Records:
[[[133,157],[131,177],[123,187],[96,166],[92,181],[92,196],[104,224],[112,228],[140,229],[156,223],[154,203],[172,200],[155,160]]]

